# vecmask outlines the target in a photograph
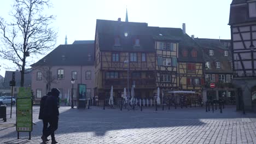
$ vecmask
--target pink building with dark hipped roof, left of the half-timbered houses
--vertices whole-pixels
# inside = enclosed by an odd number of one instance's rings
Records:
[[[31,65],[33,68],[31,87],[36,102],[53,87],[60,89],[60,99],[67,99],[72,94],[72,77],[75,79],[74,100],[77,99],[78,84],[86,85],[86,99],[94,99],[94,41],[89,42],[59,45]]]

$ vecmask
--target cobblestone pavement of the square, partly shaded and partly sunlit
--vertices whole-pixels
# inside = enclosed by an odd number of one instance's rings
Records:
[[[40,143],[42,121],[38,120],[38,106],[33,107],[32,139],[21,133],[17,140],[15,115],[6,123],[0,121],[0,143]],[[10,107],[8,106],[8,113]],[[59,143],[256,143],[256,114],[236,112],[225,107],[223,113],[205,112],[200,107],[162,111],[153,107],[143,111],[90,110],[60,107]],[[14,112],[15,113],[15,107]],[[50,143],[50,142],[48,142]]]

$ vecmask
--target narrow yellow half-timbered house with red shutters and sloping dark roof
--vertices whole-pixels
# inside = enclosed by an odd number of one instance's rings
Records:
[[[184,91],[194,91],[201,95],[203,84],[203,53],[193,38],[183,28],[179,43],[178,83]]]

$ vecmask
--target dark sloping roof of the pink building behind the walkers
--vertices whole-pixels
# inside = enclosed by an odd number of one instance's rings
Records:
[[[91,57],[90,61],[89,57]],[[59,45],[31,66],[94,65],[94,61],[94,44]]]

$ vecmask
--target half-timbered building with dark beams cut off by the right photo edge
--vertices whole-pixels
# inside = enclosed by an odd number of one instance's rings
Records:
[[[232,68],[239,88],[237,109],[256,106],[256,1],[233,0],[230,5]]]

